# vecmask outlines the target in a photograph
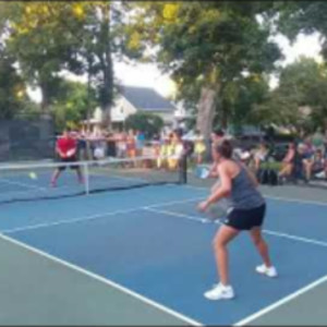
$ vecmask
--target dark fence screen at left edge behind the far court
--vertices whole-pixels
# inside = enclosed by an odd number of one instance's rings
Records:
[[[55,143],[51,118],[0,120],[0,161],[52,159]]]

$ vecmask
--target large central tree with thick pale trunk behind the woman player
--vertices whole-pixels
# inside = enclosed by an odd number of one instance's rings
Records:
[[[223,126],[230,119],[222,105],[229,84],[244,72],[269,72],[280,58],[278,47],[269,41],[268,26],[256,19],[270,7],[250,1],[138,4],[135,31],[150,45],[159,45],[156,60],[162,70],[171,73],[182,94],[196,83],[198,128],[205,135],[215,112]],[[207,119],[202,124],[203,113]]]

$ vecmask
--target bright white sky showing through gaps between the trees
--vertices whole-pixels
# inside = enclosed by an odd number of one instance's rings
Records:
[[[315,58],[317,61],[322,61],[322,57],[319,56],[320,43],[318,34],[313,34],[311,36],[299,35],[293,45],[290,45],[288,39],[281,35],[276,36],[275,39],[284,55],[284,60],[279,63],[282,66],[294,62],[301,56]],[[171,96],[174,90],[173,82],[168,75],[162,74],[156,64],[140,63],[132,65],[114,61],[114,75],[122,85],[155,88],[155,90],[164,97]],[[85,77],[76,78],[70,76],[70,78],[86,82]],[[274,88],[277,85],[278,80],[271,76],[270,87]],[[33,100],[37,102],[40,101],[41,96],[39,90],[29,89],[28,94]]]

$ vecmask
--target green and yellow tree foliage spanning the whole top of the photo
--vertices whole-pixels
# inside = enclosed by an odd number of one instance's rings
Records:
[[[114,55],[158,63],[177,83],[177,100],[194,116],[202,89],[214,90],[216,125],[323,125],[324,64],[302,59],[283,69],[279,87],[268,90],[266,76],[281,58],[270,38],[277,31],[291,40],[299,33],[320,33],[327,58],[327,2],[0,1],[0,117],[39,113],[26,85],[41,88],[41,109],[51,111],[59,126],[85,119],[88,108],[109,111]],[[89,92],[63,82],[62,71],[86,74]],[[311,111],[303,114],[299,107]],[[147,129],[150,119],[140,121]],[[155,133],[152,128],[149,133]]]

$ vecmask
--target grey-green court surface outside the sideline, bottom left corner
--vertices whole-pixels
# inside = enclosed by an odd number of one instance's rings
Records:
[[[190,325],[100,278],[0,238],[0,325]]]

